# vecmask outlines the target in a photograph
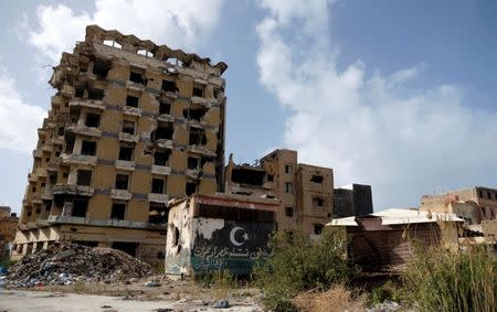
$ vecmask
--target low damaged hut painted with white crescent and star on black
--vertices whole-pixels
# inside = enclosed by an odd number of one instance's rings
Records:
[[[198,276],[228,269],[248,275],[267,256],[279,203],[243,195],[193,195],[170,202],[166,273]]]

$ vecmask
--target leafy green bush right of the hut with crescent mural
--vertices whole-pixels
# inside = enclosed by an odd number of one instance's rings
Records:
[[[302,230],[276,233],[268,243],[272,256],[256,268],[255,284],[263,303],[275,311],[295,310],[290,299],[299,291],[347,283],[355,272],[347,260],[345,233],[327,227],[313,240]]]

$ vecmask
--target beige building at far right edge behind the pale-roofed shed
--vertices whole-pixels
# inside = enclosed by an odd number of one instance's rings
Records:
[[[472,186],[441,194],[423,195],[421,211],[454,213],[468,225],[496,219],[497,190]]]

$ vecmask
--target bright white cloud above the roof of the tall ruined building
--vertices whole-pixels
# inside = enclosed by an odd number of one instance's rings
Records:
[[[216,25],[221,6],[222,0],[96,0],[95,12],[77,13],[64,4],[41,4],[36,9],[39,26],[30,29],[22,20],[18,30],[54,64],[62,52],[71,52],[76,41],[84,40],[88,24],[116,29],[173,49],[194,49]]]

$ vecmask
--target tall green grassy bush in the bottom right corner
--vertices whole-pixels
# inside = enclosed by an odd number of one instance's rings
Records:
[[[497,311],[497,262],[485,246],[417,250],[402,297],[425,311]]]

